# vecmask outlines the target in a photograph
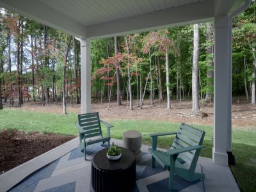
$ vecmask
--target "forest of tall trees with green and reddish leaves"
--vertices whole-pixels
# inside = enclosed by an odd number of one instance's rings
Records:
[[[255,1],[233,19],[232,95],[255,104]],[[81,102],[80,43],[74,36],[1,9],[0,109]],[[214,28],[212,22],[93,40],[92,99],[142,108],[145,98],[172,108],[172,100],[213,100]]]

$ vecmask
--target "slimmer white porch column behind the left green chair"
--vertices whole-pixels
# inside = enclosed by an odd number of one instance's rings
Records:
[[[91,41],[80,40],[81,44],[81,113],[91,111]]]

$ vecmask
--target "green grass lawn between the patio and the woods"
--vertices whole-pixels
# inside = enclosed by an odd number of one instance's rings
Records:
[[[28,111],[0,110],[0,130],[19,129],[27,132],[41,131],[61,134],[77,134],[77,115],[66,116],[52,113],[36,113]],[[150,145],[148,133],[177,131],[179,124],[170,122],[157,122],[151,120],[108,120],[115,127],[111,129],[111,137],[122,139],[122,132],[127,130],[140,131],[143,143]],[[200,156],[212,157],[212,126],[194,125],[206,132],[205,148]],[[102,126],[103,127],[103,126]],[[106,129],[102,129],[106,134]],[[159,138],[158,146],[170,147],[173,136]],[[256,129],[234,129],[232,131],[233,153],[236,156],[236,166],[230,166],[241,191],[255,191],[256,189]]]

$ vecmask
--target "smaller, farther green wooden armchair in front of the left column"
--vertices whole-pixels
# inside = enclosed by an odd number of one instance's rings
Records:
[[[108,128],[108,137],[102,136],[102,130],[100,123],[106,125]],[[78,124],[76,125],[79,131],[79,146],[84,152],[84,159],[86,160],[86,147],[94,143],[101,143],[102,145],[105,142],[110,140],[110,128],[113,125],[110,125],[99,118],[99,113],[86,113],[78,115]]]

